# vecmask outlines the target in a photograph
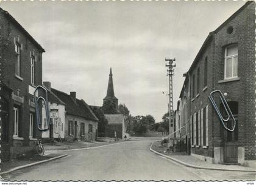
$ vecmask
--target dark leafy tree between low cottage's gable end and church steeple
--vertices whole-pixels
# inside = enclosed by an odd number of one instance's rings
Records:
[[[90,108],[93,111],[94,115],[96,115],[96,117],[99,119],[98,136],[100,136],[100,137],[105,136],[105,127],[107,126],[108,121],[104,116],[102,108],[94,107],[94,106],[90,106]]]

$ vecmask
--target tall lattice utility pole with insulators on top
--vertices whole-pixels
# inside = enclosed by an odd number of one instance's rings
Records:
[[[172,90],[172,76],[174,76],[174,69],[173,67],[176,67],[176,64],[173,64],[175,61],[174,59],[167,59],[165,58],[165,61],[168,62],[168,64],[165,64],[167,67],[167,76],[169,76],[169,143],[168,143],[168,149],[171,147],[171,127],[174,126],[174,114],[173,114],[173,90]],[[171,119],[172,118],[172,119]]]

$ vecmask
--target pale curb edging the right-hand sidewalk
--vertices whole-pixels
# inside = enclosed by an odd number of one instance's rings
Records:
[[[152,145],[153,145],[153,143],[151,143],[151,146],[149,147],[149,150],[151,150],[151,152],[154,152],[157,155],[161,155],[165,158],[168,158],[169,160],[175,161],[176,163],[182,164],[182,165],[187,166],[187,167],[193,167],[193,168],[196,168],[196,169],[205,169],[205,170],[223,170],[223,171],[235,171],[235,172],[256,172],[256,170],[221,169],[221,168],[217,168],[217,167],[195,166],[195,165],[192,165],[192,164],[184,163],[183,161],[177,160],[176,158],[172,158],[171,156],[165,155],[163,153],[157,152],[157,151],[152,149]]]

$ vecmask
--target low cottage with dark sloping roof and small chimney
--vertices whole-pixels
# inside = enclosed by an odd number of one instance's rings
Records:
[[[51,92],[65,103],[65,140],[95,141],[98,132],[98,118],[83,99],[51,88]]]

